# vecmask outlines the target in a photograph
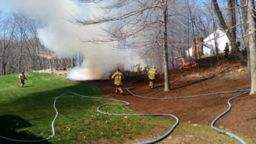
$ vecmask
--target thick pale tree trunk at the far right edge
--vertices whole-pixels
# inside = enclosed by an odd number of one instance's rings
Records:
[[[255,44],[255,19],[254,19],[254,0],[248,0],[248,48],[250,49],[250,62],[251,62],[251,92],[254,94],[256,91],[256,44]]]

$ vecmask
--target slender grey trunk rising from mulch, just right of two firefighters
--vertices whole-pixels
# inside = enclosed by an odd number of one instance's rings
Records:
[[[163,30],[163,48],[164,48],[164,65],[165,65],[165,91],[170,91],[169,74],[168,74],[168,45],[167,45],[167,0],[161,0],[162,9],[162,30]]]

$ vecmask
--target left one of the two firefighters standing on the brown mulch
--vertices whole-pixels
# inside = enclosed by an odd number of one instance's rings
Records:
[[[111,80],[114,80],[114,85],[117,85],[115,94],[118,94],[118,90],[120,91],[121,95],[123,95],[123,90],[121,88],[122,84],[124,83],[123,74],[120,72],[120,69],[117,69],[117,72],[114,73]]]

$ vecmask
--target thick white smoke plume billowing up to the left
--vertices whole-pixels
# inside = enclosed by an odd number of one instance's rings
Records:
[[[66,21],[68,13],[81,12],[93,14],[89,6],[78,5],[71,0],[0,0],[2,6],[10,11],[24,11],[42,19],[46,27],[38,31],[38,37],[48,49],[63,58],[72,53],[83,53],[86,57],[80,69],[74,69],[68,77],[72,80],[99,79],[114,69],[117,62],[130,67],[130,60],[125,52],[107,49],[107,45],[82,43],[78,37],[96,37],[88,33],[102,33],[101,28],[94,26],[77,27]],[[101,25],[104,27],[104,25]]]

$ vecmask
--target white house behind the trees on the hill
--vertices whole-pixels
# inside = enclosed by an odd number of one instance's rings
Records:
[[[216,38],[216,43],[214,40],[214,35]],[[242,44],[242,40],[236,40],[237,45],[240,49],[245,48]],[[232,49],[230,46],[229,38],[227,37],[226,33],[222,29],[216,30],[215,34],[210,34],[210,36],[203,39],[203,54],[204,56],[212,56],[214,53],[216,53],[216,46],[219,49],[219,53],[223,53],[226,43],[229,43],[229,50]],[[190,56],[192,56],[192,46],[188,50]],[[187,55],[188,55],[187,52]]]

